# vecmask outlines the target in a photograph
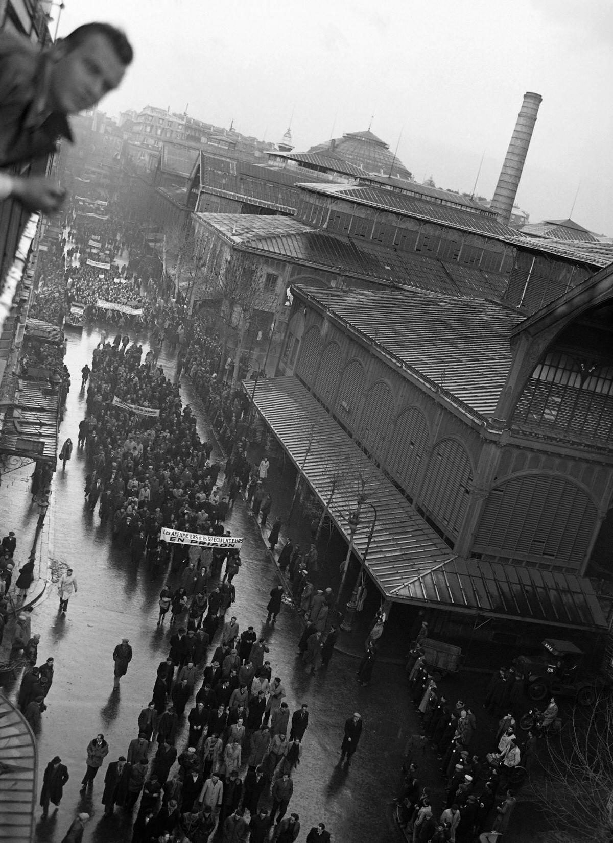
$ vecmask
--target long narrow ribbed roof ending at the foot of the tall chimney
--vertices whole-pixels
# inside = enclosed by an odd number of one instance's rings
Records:
[[[405,214],[407,217],[441,223],[461,231],[472,234],[483,234],[498,240],[514,241],[518,233],[496,219],[481,215],[481,213],[460,210],[460,208],[445,207],[437,201],[419,199],[417,196],[406,196],[404,193],[388,191],[378,187],[364,187],[356,185],[309,185],[309,191],[323,193],[325,196],[333,194],[336,199],[355,201],[359,205],[379,208],[383,211]],[[443,202],[444,200],[441,200]]]

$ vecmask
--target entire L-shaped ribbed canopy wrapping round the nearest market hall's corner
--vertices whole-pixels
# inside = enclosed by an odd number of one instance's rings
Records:
[[[244,385],[251,395],[253,382]],[[377,510],[366,566],[386,598],[553,626],[606,626],[587,578],[454,556],[298,379],[259,380],[254,404],[324,505],[335,475],[342,476],[329,512],[347,541],[348,516],[358,505],[360,481],[366,481],[368,503]],[[354,537],[356,554],[362,558],[373,519],[370,507],[362,507]]]

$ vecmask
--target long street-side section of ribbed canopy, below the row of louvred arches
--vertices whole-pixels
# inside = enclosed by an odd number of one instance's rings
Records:
[[[252,389],[253,384],[245,382],[249,395]],[[254,402],[293,463],[304,466],[304,477],[321,500],[327,502],[330,497],[334,466],[342,464],[346,468],[347,482],[332,498],[330,512],[347,540],[350,534],[347,517],[356,508],[358,480],[360,475],[367,479],[368,502],[378,513],[367,564],[384,593],[390,593],[390,589],[409,577],[453,555],[298,379],[258,381]],[[354,539],[360,555],[366,548],[372,524],[372,513],[364,507]]]

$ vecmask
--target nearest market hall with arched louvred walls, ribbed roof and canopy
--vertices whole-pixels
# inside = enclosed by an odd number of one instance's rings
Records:
[[[479,617],[517,640],[517,620],[604,630],[588,577],[610,575],[613,271],[530,316],[418,291],[292,293],[284,374],[255,406],[322,502],[330,456],[306,450],[309,425],[377,472],[384,516],[354,545],[382,597],[458,634]],[[347,537],[351,506],[331,507]]]

